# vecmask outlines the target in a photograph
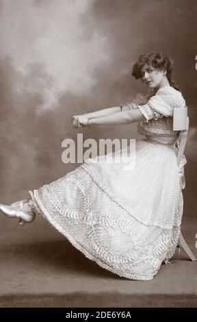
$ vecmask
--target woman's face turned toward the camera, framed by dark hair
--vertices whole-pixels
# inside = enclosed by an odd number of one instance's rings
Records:
[[[142,67],[142,81],[150,88],[159,88],[163,77],[166,76],[166,71],[155,69],[150,64],[144,64]]]

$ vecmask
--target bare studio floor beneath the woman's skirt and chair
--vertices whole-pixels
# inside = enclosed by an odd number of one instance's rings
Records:
[[[189,212],[194,196],[188,189],[186,197],[181,231],[197,256],[197,216]],[[183,249],[143,282],[102,269],[42,218],[21,227],[2,214],[0,230],[0,307],[197,307],[197,262]]]

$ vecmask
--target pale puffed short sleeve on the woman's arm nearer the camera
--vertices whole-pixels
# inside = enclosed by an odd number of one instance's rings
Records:
[[[185,106],[185,99],[181,92],[170,86],[157,90],[157,93],[148,99],[148,102],[142,106],[137,106],[142,112],[146,121],[151,119],[160,119],[173,115],[173,109]]]

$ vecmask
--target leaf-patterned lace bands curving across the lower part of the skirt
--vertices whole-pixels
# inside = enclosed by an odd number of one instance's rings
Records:
[[[71,179],[71,180],[70,180]],[[83,198],[87,199],[87,191],[86,191],[86,187],[84,185],[81,184],[80,182],[81,176],[78,177],[68,177],[68,182],[73,182],[74,184],[76,184],[78,187],[80,187],[81,192],[83,193]],[[79,181],[78,181],[79,180]],[[86,180],[85,180],[86,181]],[[83,189],[82,189],[83,186]],[[58,203],[59,200],[57,200],[55,197],[53,197],[53,195],[50,195],[50,200],[51,203],[53,205],[53,207],[55,208],[55,210],[57,210],[58,212],[60,212],[60,214],[62,214],[62,216],[66,216],[67,218],[70,219],[83,219],[83,223],[84,224],[88,224],[88,225],[104,225],[105,227],[113,227],[115,229],[118,229],[119,231],[121,231],[124,234],[129,234],[129,236],[131,237],[133,235],[133,225],[131,225],[131,223],[129,223],[129,221],[114,221],[114,219],[109,219],[109,215],[108,218],[98,218],[97,216],[92,217],[91,219],[88,220],[87,217],[84,215],[84,213],[79,213],[76,212],[75,210],[70,210],[70,208],[68,208],[68,206],[66,206],[66,208],[64,208],[64,210],[62,210],[61,204]],[[86,212],[90,212],[92,206],[89,207],[87,200],[85,200],[84,203],[84,208],[86,208]],[[175,232],[176,230],[180,231],[180,227],[175,228]],[[170,231],[171,232],[171,231]],[[170,232],[168,232],[168,234],[170,234]],[[166,233],[165,233],[166,234]],[[92,243],[94,240],[94,250],[96,251],[96,253],[99,254],[99,256],[102,256],[102,258],[104,260],[106,260],[107,262],[111,262],[114,263],[116,262],[116,264],[123,264],[124,268],[127,266],[127,269],[131,268],[135,265],[138,264],[142,261],[144,261],[145,263],[148,262],[148,264],[150,264],[153,269],[158,271],[158,267],[160,267],[161,265],[161,261],[163,260],[163,253],[166,252],[166,249],[170,249],[170,253],[172,253],[172,249],[174,247],[174,239],[172,239],[172,237],[169,238],[169,236],[161,236],[161,239],[159,240],[158,245],[155,247],[155,249],[153,250],[153,255],[150,256],[142,256],[142,258],[140,260],[134,261],[133,262],[133,258],[122,258],[122,256],[120,257],[120,255],[116,255],[116,254],[112,254],[109,253],[109,251],[105,251],[105,249],[103,249],[100,245],[99,240],[97,240],[97,234],[96,232],[93,230],[91,232],[92,235]],[[175,234],[176,236],[176,234]],[[175,238],[175,242],[176,242]],[[135,244],[135,240],[133,239],[133,249],[137,249],[136,244]],[[143,247],[142,247],[143,249]],[[139,249],[138,249],[139,250]],[[168,250],[169,252],[169,250]],[[173,253],[172,253],[173,255]],[[155,257],[153,257],[155,256]],[[171,256],[172,257],[172,256]],[[131,262],[132,261],[132,262]]]

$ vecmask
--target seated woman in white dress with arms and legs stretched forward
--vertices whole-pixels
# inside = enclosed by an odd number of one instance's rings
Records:
[[[28,200],[0,209],[18,217],[21,225],[40,214],[104,269],[131,280],[153,280],[179,242],[183,195],[172,113],[185,106],[185,99],[172,81],[172,60],[163,53],[140,55],[132,75],[152,89],[148,95],[74,116],[73,125],[137,122],[145,139],[135,141],[135,168],[125,171],[122,163],[103,162],[105,156],[88,159],[55,182],[29,191]],[[122,154],[128,156],[129,149]]]

